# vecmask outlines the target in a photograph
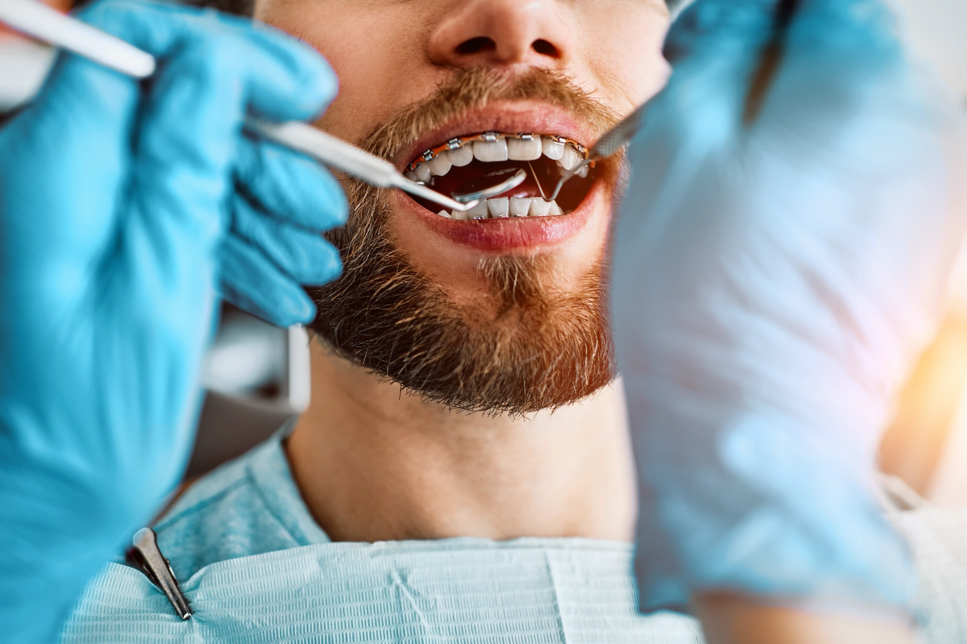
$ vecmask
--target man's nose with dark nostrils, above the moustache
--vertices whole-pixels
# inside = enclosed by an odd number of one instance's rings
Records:
[[[467,0],[433,30],[430,60],[460,68],[565,67],[573,55],[571,30],[555,0]]]

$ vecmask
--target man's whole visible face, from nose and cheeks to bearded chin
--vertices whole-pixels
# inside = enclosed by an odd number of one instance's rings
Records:
[[[344,182],[345,272],[311,292],[316,330],[457,408],[531,411],[606,384],[617,163],[575,177],[555,203],[542,193],[664,84],[664,0],[258,0],[255,16],[336,70],[325,130],[448,195],[495,170],[527,173],[471,219]]]

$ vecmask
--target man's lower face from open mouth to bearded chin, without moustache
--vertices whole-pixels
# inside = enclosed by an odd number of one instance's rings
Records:
[[[444,194],[501,169],[527,181],[467,213],[400,191],[353,194],[334,241],[345,270],[313,292],[320,335],[346,357],[425,399],[464,411],[570,405],[613,378],[601,285],[614,165],[549,194],[596,140],[546,106],[490,105],[394,154]]]

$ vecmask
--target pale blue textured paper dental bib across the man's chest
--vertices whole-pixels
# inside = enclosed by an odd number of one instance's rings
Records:
[[[108,564],[70,644],[698,644],[698,623],[635,612],[631,546],[581,539],[317,544],[221,561],[181,584],[183,622],[147,577]]]

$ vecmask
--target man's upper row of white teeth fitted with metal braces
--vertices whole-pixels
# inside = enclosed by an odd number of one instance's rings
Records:
[[[571,170],[587,156],[587,150],[563,136],[484,132],[467,139],[451,139],[438,149],[427,150],[419,161],[410,164],[406,176],[412,181],[425,183],[430,177],[443,177],[452,166],[467,165],[475,158],[484,162],[533,161],[541,154],[557,161],[565,170]]]

